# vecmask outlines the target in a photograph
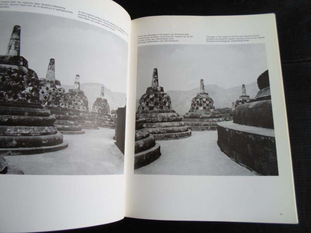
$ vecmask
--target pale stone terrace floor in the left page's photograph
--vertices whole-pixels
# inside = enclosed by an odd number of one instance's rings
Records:
[[[114,144],[114,130],[85,130],[63,135],[68,148],[42,154],[5,156],[26,175],[123,174],[124,156]]]

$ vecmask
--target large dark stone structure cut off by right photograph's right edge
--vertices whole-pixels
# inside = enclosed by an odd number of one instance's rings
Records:
[[[264,176],[278,176],[268,71],[257,83],[260,91],[255,99],[235,108],[233,122],[218,123],[217,144],[244,167]]]

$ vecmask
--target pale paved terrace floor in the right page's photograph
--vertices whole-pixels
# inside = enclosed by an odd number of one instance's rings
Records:
[[[160,158],[135,170],[135,174],[256,176],[220,151],[217,130],[192,131],[188,138],[157,142]]]

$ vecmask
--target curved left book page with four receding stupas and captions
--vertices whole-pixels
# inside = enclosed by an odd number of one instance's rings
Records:
[[[0,31],[0,231],[122,219],[116,118],[125,118],[130,16],[110,0],[1,0]]]

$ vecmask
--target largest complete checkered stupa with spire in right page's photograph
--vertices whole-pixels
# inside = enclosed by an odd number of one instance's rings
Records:
[[[179,139],[191,136],[191,130],[173,108],[171,99],[159,86],[158,70],[153,70],[151,87],[139,100],[139,119],[145,118],[144,127],[156,140]]]

